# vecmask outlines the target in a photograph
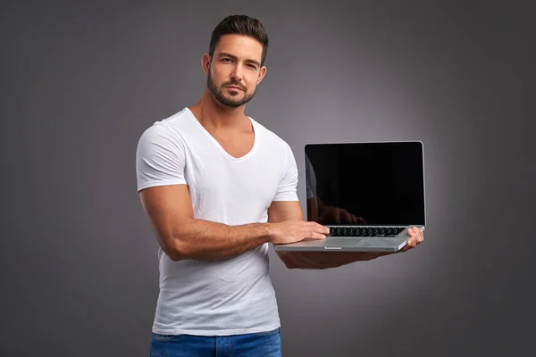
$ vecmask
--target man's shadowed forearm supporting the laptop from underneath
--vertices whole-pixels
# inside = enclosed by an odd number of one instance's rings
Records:
[[[371,261],[390,253],[375,252],[279,252],[281,261],[289,269],[329,269],[337,268],[351,262]]]

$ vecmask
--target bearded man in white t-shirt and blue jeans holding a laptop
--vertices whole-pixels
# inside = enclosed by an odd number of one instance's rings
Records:
[[[289,145],[244,114],[267,47],[261,22],[225,18],[202,57],[200,100],[139,139],[138,192],[160,245],[152,356],[281,355],[269,244],[329,233],[303,219]],[[421,241],[409,231],[408,248]],[[279,255],[289,268],[313,269],[377,256]]]

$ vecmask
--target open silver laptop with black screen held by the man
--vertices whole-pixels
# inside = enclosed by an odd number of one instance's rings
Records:
[[[307,144],[305,159],[306,217],[330,235],[276,251],[398,252],[407,228],[424,230],[421,141]]]

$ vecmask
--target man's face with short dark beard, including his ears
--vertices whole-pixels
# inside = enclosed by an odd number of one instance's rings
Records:
[[[212,59],[208,54],[203,56],[206,87],[214,99],[231,108],[247,104],[266,73],[261,67],[262,55],[263,45],[254,38],[222,36]]]

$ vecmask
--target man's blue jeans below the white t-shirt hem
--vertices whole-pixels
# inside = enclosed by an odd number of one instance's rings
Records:
[[[281,357],[280,329],[246,335],[151,336],[151,357]]]

